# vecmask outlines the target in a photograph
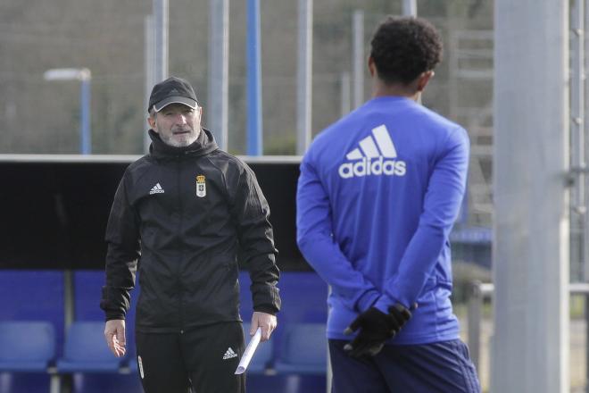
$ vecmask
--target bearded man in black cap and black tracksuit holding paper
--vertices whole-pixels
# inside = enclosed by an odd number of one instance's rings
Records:
[[[147,393],[244,392],[237,254],[252,279],[250,334],[276,328],[280,308],[270,209],[253,171],[201,127],[194,89],[153,87],[150,153],[120,180],[106,229],[104,336],[125,354],[125,314],[139,270],[137,365]]]

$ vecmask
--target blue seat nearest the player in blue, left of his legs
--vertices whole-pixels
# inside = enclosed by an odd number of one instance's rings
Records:
[[[275,364],[277,372],[325,374],[328,369],[328,339],[324,323],[292,323],[286,327]]]

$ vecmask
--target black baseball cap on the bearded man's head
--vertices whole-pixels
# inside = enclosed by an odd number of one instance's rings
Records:
[[[149,96],[147,112],[152,107],[155,112],[160,112],[170,104],[184,104],[193,109],[196,108],[198,101],[196,100],[195,90],[187,80],[170,77],[153,86],[152,94]]]

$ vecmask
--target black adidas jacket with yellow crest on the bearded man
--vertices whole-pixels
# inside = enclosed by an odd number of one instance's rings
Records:
[[[208,130],[186,147],[149,132],[150,154],[125,171],[106,228],[106,320],[124,319],[138,267],[137,331],[241,321],[238,254],[252,278],[253,309],[276,314],[278,251],[253,171]]]

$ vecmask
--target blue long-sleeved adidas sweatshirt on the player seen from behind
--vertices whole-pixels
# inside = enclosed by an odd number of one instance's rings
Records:
[[[457,339],[448,235],[464,196],[467,132],[379,96],[323,130],[301,163],[297,243],[331,286],[328,338],[376,306],[417,303],[392,344]]]

